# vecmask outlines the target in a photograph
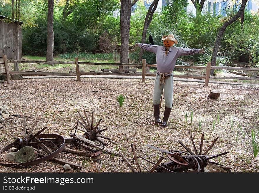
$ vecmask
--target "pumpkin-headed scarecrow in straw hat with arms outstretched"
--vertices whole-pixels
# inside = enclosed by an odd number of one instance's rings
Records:
[[[157,74],[154,84],[153,106],[155,122],[162,127],[167,126],[168,118],[172,110],[173,99],[173,70],[175,62],[180,56],[190,56],[195,53],[205,53],[204,48],[177,48],[172,47],[178,43],[173,34],[162,36],[164,46],[136,43],[135,46],[156,54]],[[164,90],[165,112],[163,121],[160,120],[160,100]]]

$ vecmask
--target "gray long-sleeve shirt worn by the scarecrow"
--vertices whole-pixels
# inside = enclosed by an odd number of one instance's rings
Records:
[[[167,55],[165,56],[165,46],[138,43],[138,47],[155,53],[157,60],[157,73],[163,73],[165,75],[173,75],[171,72],[174,70],[175,62],[179,56],[190,56],[200,51],[200,49],[195,48],[170,47]]]

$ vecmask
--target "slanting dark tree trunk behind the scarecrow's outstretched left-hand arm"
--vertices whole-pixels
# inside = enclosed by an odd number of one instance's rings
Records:
[[[159,0],[154,0],[152,4],[150,4],[150,7],[147,11],[147,15],[144,21],[144,27],[143,27],[143,32],[142,32],[142,37],[141,37],[141,43],[145,43],[146,41],[146,36],[147,36],[147,28],[150,25],[150,22],[152,21],[152,17],[154,15],[155,10],[157,9],[157,4]],[[140,56],[139,56],[139,62],[142,60],[142,55],[143,55],[143,49],[140,50]]]

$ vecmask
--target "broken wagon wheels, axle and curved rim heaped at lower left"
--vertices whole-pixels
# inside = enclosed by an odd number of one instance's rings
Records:
[[[79,112],[78,112],[79,113]],[[85,115],[86,112],[84,111]],[[79,113],[81,119],[84,121],[84,118],[82,118],[82,115]],[[86,115],[87,118],[87,115]],[[77,119],[76,119],[77,120]],[[59,158],[59,153],[65,153],[65,154],[73,154],[73,155],[80,155],[80,156],[86,156],[86,157],[91,157],[91,158],[97,158],[98,156],[101,155],[100,150],[104,150],[108,153],[112,153],[115,155],[118,155],[118,152],[113,151],[105,145],[107,145],[105,142],[102,140],[99,140],[98,137],[105,138],[105,139],[110,139],[108,137],[104,137],[101,132],[107,129],[99,129],[98,125],[101,121],[97,123],[95,127],[93,127],[93,113],[92,113],[92,124],[91,126],[87,127],[84,125],[84,128],[86,127],[87,130],[83,130],[78,128],[78,123],[83,125],[79,120],[77,120],[76,126],[71,130],[70,136],[72,138],[65,138],[62,137],[61,135],[57,134],[41,134],[47,127],[42,128],[39,132],[37,132],[35,135],[32,134],[37,122],[39,119],[34,122],[33,126],[31,127],[30,130],[26,129],[26,118],[24,117],[24,127],[23,127],[23,135],[22,137],[15,137],[15,141],[12,142],[11,144],[7,145],[4,147],[2,150],[0,150],[0,153],[6,152],[6,151],[11,151],[12,148],[15,148],[13,151],[17,152],[18,150],[21,150],[23,147],[31,146],[33,150],[36,152],[36,156],[34,160],[29,160],[23,163],[0,163],[1,165],[4,166],[10,166],[10,167],[16,167],[16,166],[22,166],[22,167],[28,167],[30,165],[36,165],[41,162],[51,160],[54,162],[58,162],[60,164],[69,164],[71,167],[82,167],[78,164],[74,164],[72,162],[67,162],[66,160],[62,160]],[[89,122],[87,118],[87,122]],[[90,125],[90,124],[89,124]],[[90,129],[88,129],[90,128]],[[74,132],[72,133],[72,131]],[[83,131],[84,134],[80,135],[77,134],[77,130]],[[92,140],[97,140],[101,144],[98,144]],[[77,149],[74,150],[71,147],[76,146]],[[78,148],[83,149],[83,151]],[[23,149],[24,151],[24,149]],[[23,156],[26,154],[29,155],[31,154],[30,148],[28,148],[28,152],[24,152]]]

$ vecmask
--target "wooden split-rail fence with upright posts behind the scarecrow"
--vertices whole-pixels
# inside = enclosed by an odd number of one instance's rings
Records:
[[[45,63],[45,64],[75,64],[76,66],[76,72],[75,73],[63,73],[63,72],[24,72],[24,71],[9,71],[8,69],[8,63]],[[1,62],[1,64],[4,64],[5,71],[0,71],[0,74],[6,74],[7,75],[7,83],[10,83],[10,74],[21,74],[21,75],[55,75],[55,76],[76,76],[77,81],[81,81],[81,75],[134,75],[134,76],[142,76],[142,82],[145,82],[146,76],[155,76],[156,74],[152,73],[146,73],[146,67],[156,67],[156,64],[148,64],[146,63],[145,59],[142,59],[142,64],[124,64],[124,63],[99,63],[99,62],[81,62],[78,61],[78,58],[75,58],[75,61],[25,61],[25,60],[10,60],[7,61],[6,56],[4,56],[4,62]],[[111,66],[142,66],[142,73],[105,73],[105,72],[80,72],[79,64],[84,65],[111,65]],[[205,79],[205,86],[209,85],[209,79],[210,78],[216,78],[216,79],[239,79],[239,80],[259,80],[259,78],[250,78],[250,77],[216,77],[211,76],[210,77],[210,70],[212,69],[226,69],[226,70],[242,70],[242,71],[259,71],[259,68],[239,68],[239,67],[226,67],[226,66],[211,66],[210,62],[207,62],[207,66],[175,66],[175,68],[196,68],[196,69],[205,69],[206,73],[205,75],[174,75],[174,77],[179,78],[194,78],[194,79]]]

